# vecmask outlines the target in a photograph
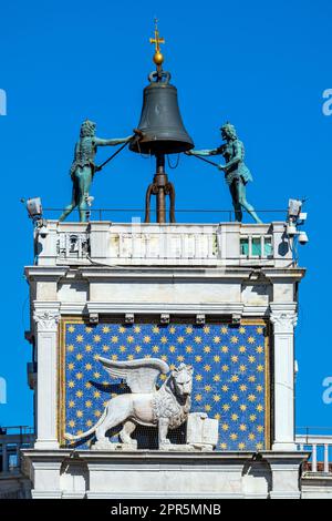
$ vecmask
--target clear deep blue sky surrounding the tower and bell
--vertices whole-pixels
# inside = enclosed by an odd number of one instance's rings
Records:
[[[332,405],[322,401],[322,381],[332,376],[332,116],[322,113],[322,93],[332,88],[329,0],[1,2],[0,89],[7,92],[8,114],[0,116],[6,203],[0,376],[8,382],[8,403],[0,405],[0,425],[32,425],[25,385],[31,348],[23,338],[29,329],[23,266],[32,263],[32,226],[20,197],[41,195],[48,207],[69,203],[68,172],[86,116],[97,122],[102,137],[127,135],[137,124],[153,69],[148,38],[155,16],[166,38],[165,69],[172,71],[196,146],[218,145],[218,129],[229,120],[246,144],[255,178],[249,201],[257,208],[286,208],[290,196],[308,197],[297,423],[331,426]],[[100,161],[108,154],[101,151]],[[152,174],[149,160],[124,152],[97,174],[95,207],[143,207]],[[183,156],[169,174],[178,208],[230,207],[215,168]]]

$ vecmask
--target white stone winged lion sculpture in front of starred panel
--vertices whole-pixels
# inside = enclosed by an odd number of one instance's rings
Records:
[[[98,360],[108,375],[124,379],[132,392],[111,399],[90,430],[77,436],[65,433],[65,439],[80,440],[94,433],[95,445],[104,446],[110,443],[106,432],[122,425],[121,441],[137,448],[137,441],[131,435],[141,425],[158,427],[159,448],[167,448],[170,445],[168,429],[183,425],[189,415],[194,368],[180,364],[170,370],[168,364],[158,358],[114,361],[100,357]],[[160,374],[168,376],[157,389],[156,381]]]

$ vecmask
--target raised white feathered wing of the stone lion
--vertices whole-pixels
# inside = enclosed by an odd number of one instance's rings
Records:
[[[100,357],[98,360],[108,375],[126,380],[132,392],[153,392],[158,376],[170,370],[168,364],[158,358],[114,361]]]

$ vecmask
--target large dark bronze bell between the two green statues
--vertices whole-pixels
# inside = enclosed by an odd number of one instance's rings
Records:
[[[169,72],[154,71],[148,80],[137,127],[143,137],[133,141],[129,149],[152,155],[176,154],[193,149],[194,142],[179,113],[177,89],[169,84]]]

